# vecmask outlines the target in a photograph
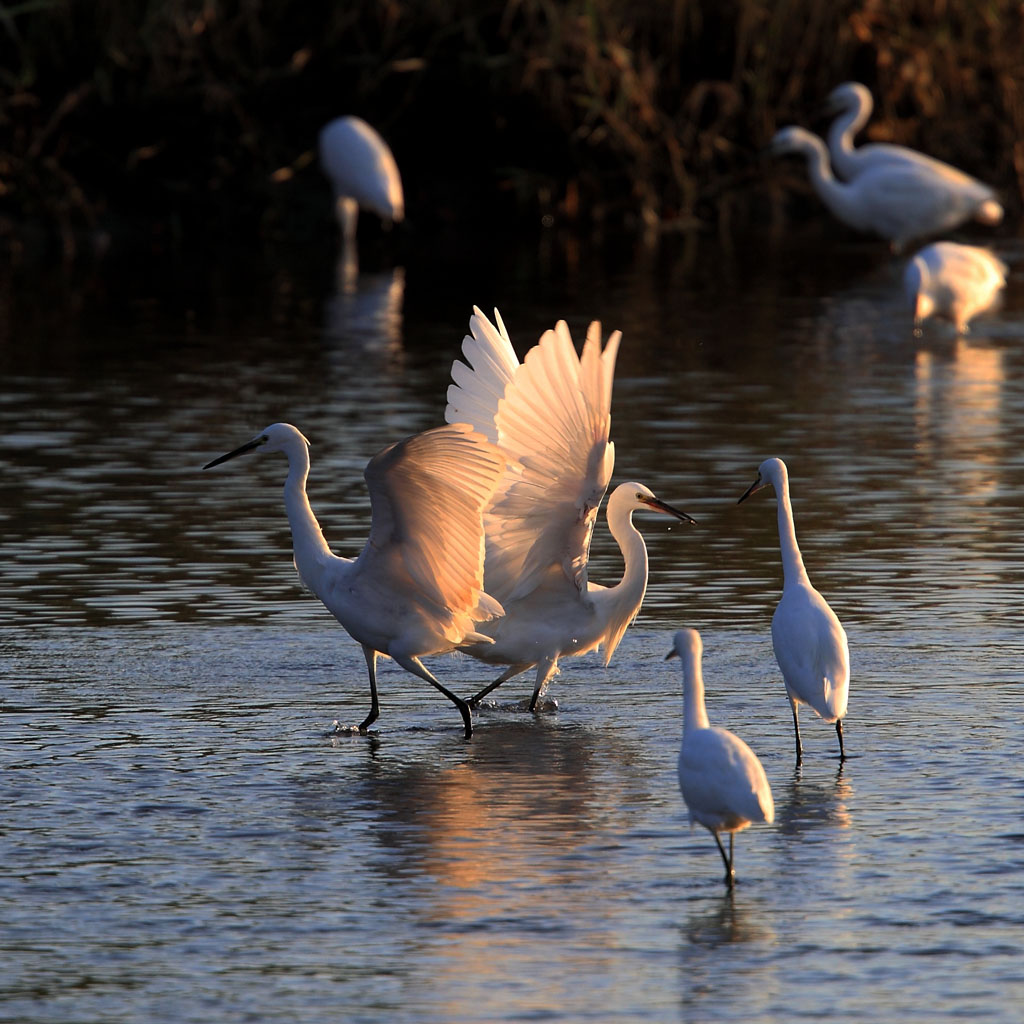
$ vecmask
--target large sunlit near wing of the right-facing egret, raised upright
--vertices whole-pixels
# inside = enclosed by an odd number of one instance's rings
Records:
[[[484,516],[487,589],[523,597],[550,571],[587,590],[590,540],[614,465],[611,384],[621,333],[601,348],[591,324],[577,355],[560,321],[531,348],[498,404],[498,443],[509,458]]]

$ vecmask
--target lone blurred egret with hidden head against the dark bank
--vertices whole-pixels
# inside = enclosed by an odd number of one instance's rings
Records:
[[[355,238],[359,207],[373,210],[385,221],[404,217],[398,165],[387,142],[361,118],[337,118],[325,125],[319,133],[319,158],[334,187],[344,241]]]

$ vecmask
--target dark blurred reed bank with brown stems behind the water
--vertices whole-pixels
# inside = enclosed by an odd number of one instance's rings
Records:
[[[1010,0],[0,2],[0,233],[323,221],[321,126],[389,140],[414,220],[729,230],[807,193],[762,155],[864,82],[865,138],[1024,194]],[[794,199],[796,193],[796,199]]]

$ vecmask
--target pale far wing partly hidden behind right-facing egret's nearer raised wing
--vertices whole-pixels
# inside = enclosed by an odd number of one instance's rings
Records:
[[[470,334],[462,342],[466,361],[452,364],[449,386],[446,423],[470,423],[489,441],[498,441],[498,403],[519,369],[519,359],[509,341],[501,314],[495,310],[497,326],[479,308],[473,306],[469,321]]]

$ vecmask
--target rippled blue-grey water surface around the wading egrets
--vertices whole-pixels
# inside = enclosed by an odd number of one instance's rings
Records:
[[[11,280],[0,323],[0,1019],[1016,1021],[1024,999],[1024,289],[914,338],[871,245],[667,242]],[[1024,248],[997,245],[1012,267]],[[651,583],[554,712],[457,713],[304,594],[284,462],[200,467],[274,420],[354,554],[361,472],[440,422],[472,304],[520,351],[625,334],[615,480]],[[850,637],[833,729],[792,723],[769,624],[790,465],[812,580]],[[603,527],[592,579],[621,570]],[[673,631],[775,795],[729,896],[675,778]],[[489,676],[432,668],[469,693]]]

